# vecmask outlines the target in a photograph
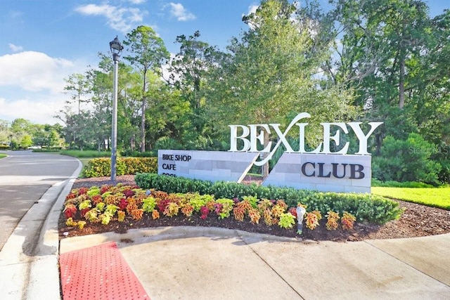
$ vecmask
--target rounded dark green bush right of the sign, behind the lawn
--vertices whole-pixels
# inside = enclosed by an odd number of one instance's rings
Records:
[[[439,163],[430,159],[436,146],[418,133],[410,133],[406,141],[387,136],[380,157],[373,157],[373,177],[380,181],[420,181],[439,184]]]

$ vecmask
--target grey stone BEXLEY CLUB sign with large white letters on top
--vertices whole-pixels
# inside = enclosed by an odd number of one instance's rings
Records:
[[[321,123],[322,142],[311,151],[305,150],[305,131],[308,123],[300,120],[311,117],[307,112],[297,115],[283,131],[281,124],[229,125],[230,150],[220,151],[158,151],[158,174],[184,176],[210,181],[240,182],[252,164],[262,166],[269,162],[280,147],[285,152],[263,182],[264,185],[289,186],[293,188],[332,192],[371,192],[371,155],[367,150],[369,136],[383,122],[369,122],[370,129],[364,133],[361,122]],[[293,150],[286,136],[298,126],[298,150]],[[348,154],[349,142],[339,150],[332,151],[330,143],[340,145],[340,133],[350,134],[351,129],[359,142],[359,150]],[[240,131],[240,134],[238,133]],[[276,143],[264,145],[265,134],[274,133]],[[240,143],[239,143],[240,141]],[[238,145],[242,145],[241,148]],[[262,150],[259,148],[264,147]],[[266,155],[261,155],[261,154]],[[258,160],[258,157],[264,157]]]

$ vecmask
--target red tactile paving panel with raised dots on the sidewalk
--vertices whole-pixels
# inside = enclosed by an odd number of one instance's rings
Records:
[[[63,299],[150,299],[124,260],[108,242],[60,254]]]

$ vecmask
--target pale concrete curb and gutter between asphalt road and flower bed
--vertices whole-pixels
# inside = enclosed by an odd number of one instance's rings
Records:
[[[3,299],[60,299],[58,219],[82,163],[27,211],[0,252]]]

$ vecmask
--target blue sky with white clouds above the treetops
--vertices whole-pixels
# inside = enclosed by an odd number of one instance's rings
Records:
[[[326,3],[326,0],[321,0]],[[450,8],[429,0],[430,14]],[[243,14],[259,0],[1,0],[0,119],[54,124],[69,96],[64,78],[98,65],[98,52],[139,25],[149,25],[171,53],[176,36],[200,31],[200,39],[224,49],[247,25]]]

